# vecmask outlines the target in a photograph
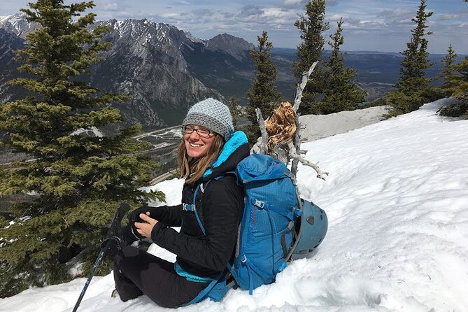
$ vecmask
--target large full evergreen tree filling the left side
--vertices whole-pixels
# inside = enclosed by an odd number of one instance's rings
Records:
[[[13,224],[0,226],[0,297],[68,281],[66,263],[78,254],[87,276],[119,204],[164,198],[137,190],[148,185],[157,166],[145,155],[146,144],[132,139],[139,126],[109,137],[80,133],[121,123],[120,112],[109,104],[124,97],[80,81],[109,47],[99,41],[108,29],[87,30],[95,14],[82,13],[94,7],[92,1],[63,2],[38,0],[22,9],[41,27],[18,51],[24,63],[19,70],[27,78],[10,84],[31,96],[0,106],[1,143],[34,157],[0,166],[0,195],[34,195],[12,208]]]

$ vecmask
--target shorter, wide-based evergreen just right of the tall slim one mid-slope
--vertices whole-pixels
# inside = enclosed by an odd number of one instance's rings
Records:
[[[337,25],[336,32],[329,36],[332,41],[328,41],[332,53],[325,63],[325,97],[313,105],[313,111],[321,114],[352,111],[359,108],[358,104],[364,102],[367,97],[367,92],[353,82],[357,73],[354,69],[344,66],[344,53],[339,50],[344,43],[341,34],[343,19],[340,19]]]

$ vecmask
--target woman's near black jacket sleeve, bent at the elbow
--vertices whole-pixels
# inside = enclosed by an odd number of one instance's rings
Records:
[[[234,179],[211,180],[203,195],[205,236],[179,233],[158,222],[153,227],[151,239],[184,260],[222,271],[234,250],[242,211],[243,191]]]

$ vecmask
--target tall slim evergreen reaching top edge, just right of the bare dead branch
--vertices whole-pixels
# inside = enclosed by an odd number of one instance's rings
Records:
[[[297,82],[300,83],[304,71],[309,71],[313,62],[320,61],[324,51],[325,39],[322,33],[329,29],[329,23],[325,22],[325,0],[311,0],[306,3],[306,14],[299,15],[295,26],[301,33],[302,43],[297,46],[299,60],[292,62],[292,65],[295,67]],[[300,113],[318,113],[314,110],[313,102],[317,100],[319,94],[322,94],[324,87],[322,81],[322,66],[319,62],[302,92]]]

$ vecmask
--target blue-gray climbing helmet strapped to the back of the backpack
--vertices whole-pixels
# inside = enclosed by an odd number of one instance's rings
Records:
[[[293,247],[293,253],[296,255],[311,253],[322,243],[328,229],[327,213],[319,206],[304,200],[300,223],[297,241]]]

